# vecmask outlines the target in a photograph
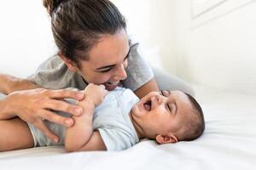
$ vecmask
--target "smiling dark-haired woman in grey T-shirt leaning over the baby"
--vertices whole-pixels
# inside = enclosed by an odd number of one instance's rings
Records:
[[[92,82],[103,84],[108,90],[117,86],[131,88],[139,98],[159,90],[153,71],[138,54],[138,43],[127,36],[125,18],[113,3],[108,0],[44,0],[44,7],[51,16],[59,52],[40,65],[38,71],[29,77],[31,82],[0,77],[0,81],[7,85],[5,87],[9,87],[8,90],[5,88],[5,94],[9,95],[0,103],[0,108],[3,108],[1,116],[19,116],[56,142],[58,137],[43,120],[72,126],[71,118],[57,116],[51,110],[71,114],[78,111],[79,114],[81,108],[67,105],[60,99],[83,99],[84,96],[76,97],[68,90],[44,88],[84,89]],[[7,79],[9,81],[5,81]],[[12,93],[29,88],[38,89]]]

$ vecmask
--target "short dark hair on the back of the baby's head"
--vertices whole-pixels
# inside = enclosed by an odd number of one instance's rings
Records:
[[[184,93],[186,94],[186,93]],[[205,130],[205,119],[201,106],[194,97],[190,94],[186,94],[192,105],[193,111],[188,114],[190,118],[188,121],[183,123],[182,133],[177,134],[178,141],[191,141],[199,138]]]

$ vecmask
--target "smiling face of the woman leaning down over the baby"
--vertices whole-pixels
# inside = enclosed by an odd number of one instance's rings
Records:
[[[106,89],[113,90],[127,75],[130,47],[124,29],[114,35],[101,37],[100,41],[90,49],[89,60],[80,61],[79,73],[86,82],[103,84]]]

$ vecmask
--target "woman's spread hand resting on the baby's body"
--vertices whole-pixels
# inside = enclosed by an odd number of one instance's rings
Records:
[[[6,99],[9,118],[19,116],[25,122],[32,123],[38,127],[49,139],[59,141],[55,135],[44,124],[44,120],[55,122],[66,127],[73,126],[73,119],[55,114],[54,111],[64,111],[71,115],[79,116],[83,109],[78,105],[70,105],[63,101],[64,98],[84,99],[84,94],[72,90],[49,90],[36,88],[31,90],[16,91],[9,94]]]

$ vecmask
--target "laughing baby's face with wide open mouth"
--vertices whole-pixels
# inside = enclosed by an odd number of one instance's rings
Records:
[[[135,105],[131,114],[147,138],[155,134],[175,133],[184,119],[189,118],[192,105],[180,91],[152,92]]]

